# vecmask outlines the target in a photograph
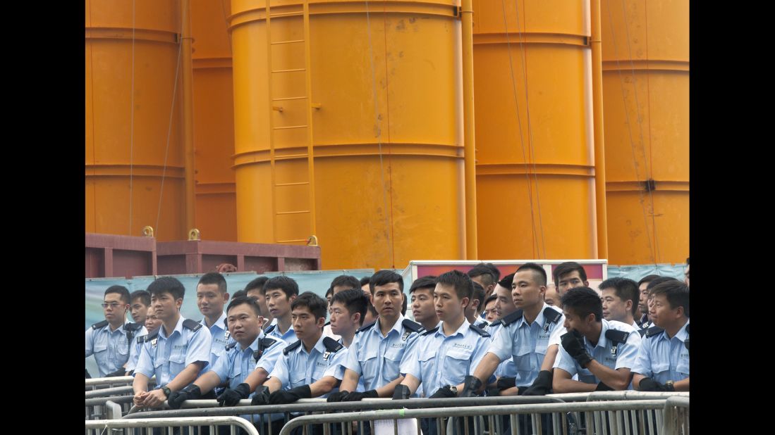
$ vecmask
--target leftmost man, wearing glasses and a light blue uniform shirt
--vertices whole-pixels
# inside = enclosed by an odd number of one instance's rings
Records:
[[[86,330],[86,357],[95,355],[101,378],[123,376],[129,361],[134,337],[146,334],[145,327],[126,320],[129,310],[129,290],[124,286],[110,286],[105,290],[102,311],[105,320]]]

